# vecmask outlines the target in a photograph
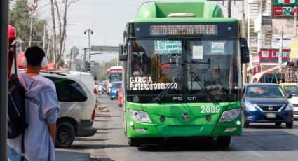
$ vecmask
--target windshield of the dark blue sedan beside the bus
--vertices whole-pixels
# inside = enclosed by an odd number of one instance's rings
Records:
[[[285,97],[283,90],[279,86],[255,85],[248,86],[247,97]]]

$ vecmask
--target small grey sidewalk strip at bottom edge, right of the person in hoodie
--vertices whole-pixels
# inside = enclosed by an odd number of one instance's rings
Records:
[[[89,161],[89,153],[79,153],[71,151],[60,151],[59,149],[55,150],[56,160],[60,161]]]

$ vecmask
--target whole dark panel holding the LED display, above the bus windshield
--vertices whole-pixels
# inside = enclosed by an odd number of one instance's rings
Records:
[[[239,36],[238,22],[152,22],[130,24],[130,37]]]

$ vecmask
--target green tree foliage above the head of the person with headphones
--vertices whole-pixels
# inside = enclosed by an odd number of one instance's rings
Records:
[[[32,45],[43,45],[43,26],[46,20],[33,18],[32,25]],[[9,12],[9,24],[15,27],[17,37],[22,39],[22,48],[25,50],[29,45],[31,16],[28,10],[27,0],[17,0]]]

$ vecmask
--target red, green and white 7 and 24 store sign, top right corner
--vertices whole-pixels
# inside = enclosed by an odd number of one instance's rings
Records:
[[[272,17],[289,17],[294,15],[294,7],[298,6],[298,0],[272,0]]]

